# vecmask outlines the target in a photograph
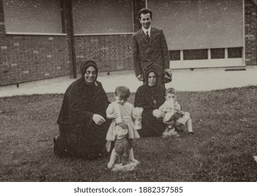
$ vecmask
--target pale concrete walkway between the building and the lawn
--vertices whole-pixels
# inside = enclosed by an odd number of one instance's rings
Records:
[[[172,83],[166,87],[174,87],[180,91],[217,90],[228,87],[243,87],[257,85],[257,66],[246,66],[245,71],[225,71],[228,68],[215,69],[175,69]],[[230,68],[231,69],[231,68]],[[39,80],[29,83],[0,87],[0,97],[21,94],[64,93],[67,87],[76,79],[70,76]],[[136,92],[142,84],[134,76],[134,71],[114,71],[109,75],[99,73],[98,80],[106,92],[114,92],[117,85],[126,85],[131,92]]]

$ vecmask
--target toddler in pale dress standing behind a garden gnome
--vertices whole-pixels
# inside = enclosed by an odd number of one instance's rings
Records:
[[[134,152],[132,148],[132,141],[133,139],[139,138],[139,133],[134,127],[134,123],[132,121],[132,111],[134,106],[127,102],[127,98],[130,97],[130,89],[125,86],[118,86],[115,90],[115,99],[116,101],[109,104],[108,108],[106,109],[106,117],[113,119],[109,130],[106,134],[106,148],[107,151],[111,149],[111,141],[115,141],[114,130],[116,128],[117,123],[125,122],[127,123],[128,127],[128,144],[129,144],[129,160],[132,162],[138,162],[134,159]],[[114,154],[115,149],[111,154]],[[113,165],[108,164],[108,167],[111,168]]]

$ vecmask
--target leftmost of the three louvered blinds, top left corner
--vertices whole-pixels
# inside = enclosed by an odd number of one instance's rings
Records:
[[[6,31],[62,33],[60,0],[4,0]]]

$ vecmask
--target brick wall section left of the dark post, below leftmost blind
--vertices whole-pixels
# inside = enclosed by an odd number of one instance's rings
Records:
[[[66,36],[0,36],[0,85],[71,74]]]

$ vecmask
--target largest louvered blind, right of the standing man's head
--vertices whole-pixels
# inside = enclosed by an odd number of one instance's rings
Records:
[[[169,50],[243,46],[242,0],[147,0]]]

